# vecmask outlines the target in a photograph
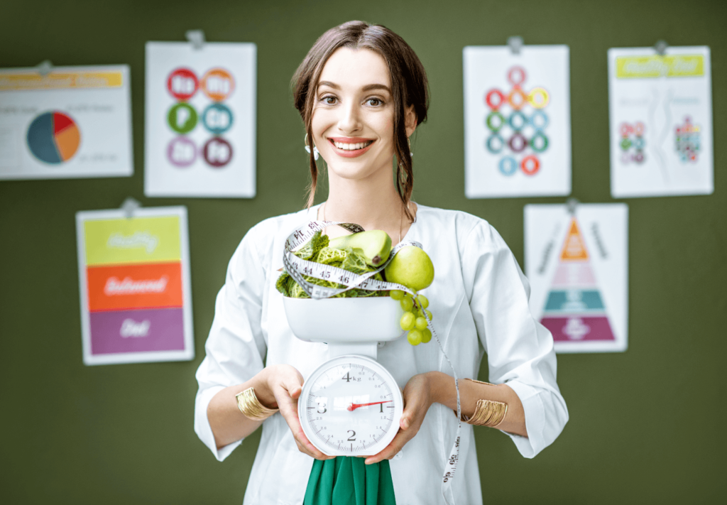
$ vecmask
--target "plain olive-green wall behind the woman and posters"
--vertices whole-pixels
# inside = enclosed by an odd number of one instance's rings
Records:
[[[465,199],[462,47],[502,45],[512,35],[569,45],[573,196],[582,202],[614,201],[606,50],[657,39],[711,47],[715,193],[622,200],[630,207],[628,351],[558,357],[571,421],[534,460],[495,430],[478,429],[477,442],[486,503],[720,501],[727,2],[694,0],[5,1],[0,66],[131,65],[135,170],[131,178],[0,181],[0,501],[241,503],[259,433],[215,461],[193,432],[194,373],[241,237],[304,203],[304,132],[290,78],[321,33],[351,19],[392,28],[427,68],[432,98],[413,143],[414,199],[489,220],[521,264],[523,205],[563,199]],[[143,196],[144,44],[182,40],[190,28],[209,41],[257,44],[254,199]],[[188,207],[192,362],[81,362],[74,214],[118,207],[126,196]]]

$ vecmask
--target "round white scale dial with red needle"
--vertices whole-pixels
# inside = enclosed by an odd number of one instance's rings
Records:
[[[298,416],[305,436],[327,456],[373,456],[399,429],[403,398],[374,359],[347,355],[325,362],[303,384]]]

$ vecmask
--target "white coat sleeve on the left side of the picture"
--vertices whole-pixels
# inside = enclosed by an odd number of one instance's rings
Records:
[[[266,282],[256,248],[260,245],[257,234],[252,228],[230,260],[225,285],[214,303],[214,320],[204,346],[206,356],[196,374],[199,389],[194,431],[218,461],[227,458],[242,440],[217,449],[207,419],[209,401],[218,391],[249,381],[264,367],[267,344],[261,319]]]

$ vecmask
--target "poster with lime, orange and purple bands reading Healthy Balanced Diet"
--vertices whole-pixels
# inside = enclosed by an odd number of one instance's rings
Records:
[[[84,363],[194,358],[186,207],[76,214]]]

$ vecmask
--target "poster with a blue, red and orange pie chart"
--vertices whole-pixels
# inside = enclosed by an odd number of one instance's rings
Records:
[[[129,67],[0,70],[0,180],[129,176]]]

